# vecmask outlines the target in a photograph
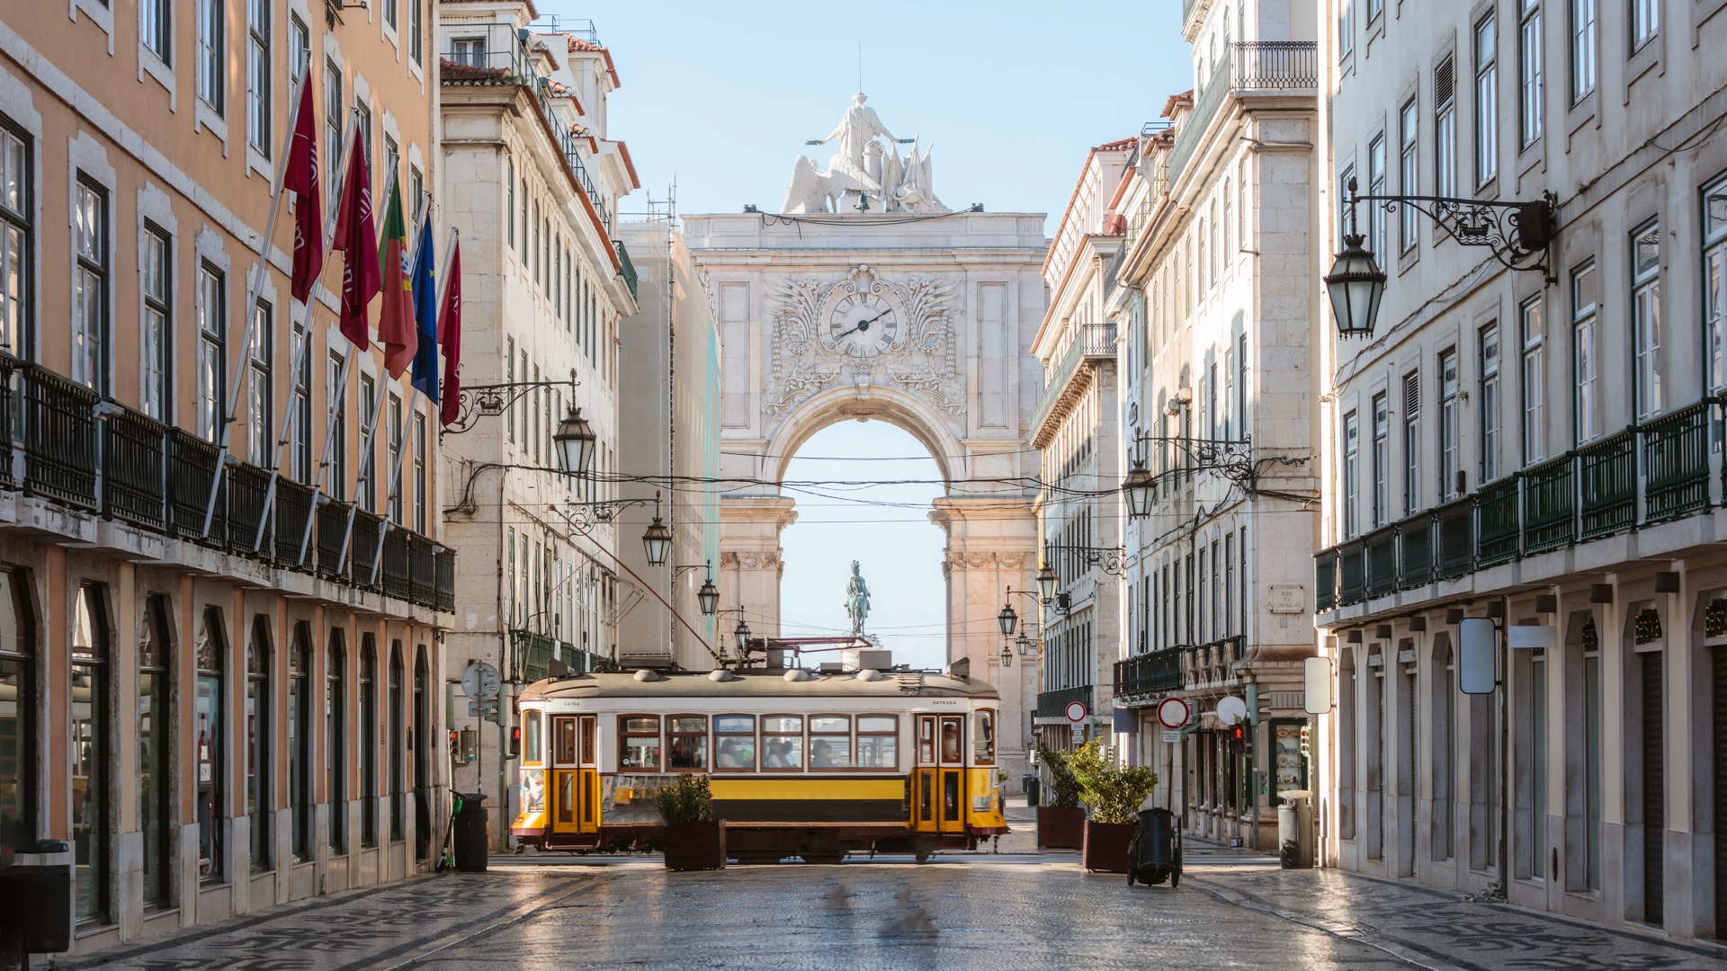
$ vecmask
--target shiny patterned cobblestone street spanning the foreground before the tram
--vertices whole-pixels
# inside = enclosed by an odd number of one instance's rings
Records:
[[[1003,848],[1021,850],[1015,833]],[[38,964],[40,966],[40,964]],[[881,857],[668,874],[658,857],[506,857],[66,971],[781,968],[1703,969],[1727,950],[1603,931],[1340,871],[1193,845],[1180,890],[1072,854]]]

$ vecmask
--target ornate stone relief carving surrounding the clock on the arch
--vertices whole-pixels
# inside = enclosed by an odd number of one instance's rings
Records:
[[[958,418],[965,411],[965,382],[952,340],[957,285],[950,276],[882,280],[867,264],[841,280],[770,280],[774,354],[762,396],[763,420],[786,415],[841,377],[860,399],[876,385],[900,387]],[[858,297],[876,309],[850,323],[846,309]],[[857,333],[860,325],[864,339]]]

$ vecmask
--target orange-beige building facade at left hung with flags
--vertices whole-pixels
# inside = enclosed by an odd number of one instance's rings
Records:
[[[307,74],[330,216],[349,138],[371,147],[375,199],[392,164],[404,190],[430,185],[432,10],[14,14],[3,855],[71,864],[74,954],[428,869],[454,575],[437,409],[340,337],[338,256],[309,304],[290,297],[294,202],[264,228]],[[399,401],[370,454],[364,373]],[[397,454],[387,510],[361,470]]]

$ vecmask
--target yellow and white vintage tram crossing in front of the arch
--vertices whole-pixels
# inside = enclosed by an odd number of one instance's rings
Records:
[[[708,774],[731,857],[974,848],[1007,833],[995,688],[960,670],[589,672],[520,696],[522,812],[542,850],[646,848],[655,791]]]

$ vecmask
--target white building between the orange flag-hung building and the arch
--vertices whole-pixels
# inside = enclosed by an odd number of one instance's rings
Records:
[[[465,287],[465,401],[444,435],[444,517],[451,543],[475,551],[444,651],[451,670],[485,662],[506,684],[484,720],[452,695],[452,727],[480,733],[454,784],[511,816],[513,688],[546,677],[553,660],[587,670],[617,648],[608,503],[618,321],[636,313],[617,204],[637,180],[629,150],[606,138],[611,55],[591,35],[539,33],[532,16],[522,0],[444,2],[439,22],[444,211],[461,233]],[[572,408],[598,435],[584,477],[563,473],[553,447]]]

